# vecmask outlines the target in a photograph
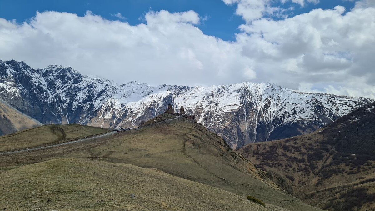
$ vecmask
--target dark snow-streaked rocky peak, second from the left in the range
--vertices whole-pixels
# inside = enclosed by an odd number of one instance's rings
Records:
[[[49,100],[57,102],[58,121],[86,124],[96,115],[101,105],[116,89],[111,81],[83,76],[72,68],[50,65],[38,70],[45,79]]]

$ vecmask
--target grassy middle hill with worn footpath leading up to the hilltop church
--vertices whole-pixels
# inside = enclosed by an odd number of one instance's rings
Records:
[[[274,210],[282,210],[281,207],[290,210],[319,210],[283,192],[262,172],[233,152],[219,136],[185,118],[124,131],[90,143],[3,156],[0,157],[0,168],[9,169],[9,166],[61,157],[86,157],[110,163],[159,169],[179,178],[210,185],[211,188],[221,188],[240,194],[244,200],[247,195],[255,196],[269,204],[266,204],[267,207],[272,204]],[[117,181],[115,184],[118,185],[120,182]],[[165,185],[174,188],[171,183]],[[197,197],[201,197],[201,194]],[[211,202],[216,203],[214,197],[211,199]],[[167,198],[162,203],[169,202]]]

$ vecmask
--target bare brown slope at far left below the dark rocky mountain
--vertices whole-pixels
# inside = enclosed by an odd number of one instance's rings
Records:
[[[0,99],[0,136],[40,125],[43,124]]]

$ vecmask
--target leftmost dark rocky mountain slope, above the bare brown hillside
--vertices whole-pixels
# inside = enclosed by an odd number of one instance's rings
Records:
[[[0,60],[0,97],[19,111],[45,124],[58,123],[53,112],[56,102],[48,102],[44,78],[24,62]]]

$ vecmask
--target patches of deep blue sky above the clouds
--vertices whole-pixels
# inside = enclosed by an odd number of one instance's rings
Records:
[[[353,8],[355,1],[348,0],[321,0],[320,3],[308,3],[304,7],[292,2],[284,4],[277,2],[273,6],[282,8],[294,7],[287,15],[302,14],[312,9],[332,9],[337,5],[344,6],[347,11]],[[142,17],[149,10],[169,12],[184,12],[193,10],[197,12],[202,20],[198,25],[206,35],[219,37],[226,41],[233,41],[234,34],[239,33],[238,26],[245,23],[242,18],[235,15],[236,5],[225,5],[220,0],[0,0],[0,17],[7,20],[16,20],[18,23],[27,21],[34,17],[36,11],[69,12],[84,16],[87,10],[96,15],[101,15],[108,20],[127,21],[131,25],[144,23]],[[126,19],[119,19],[111,14],[120,13]],[[273,17],[276,20],[278,18]]]

